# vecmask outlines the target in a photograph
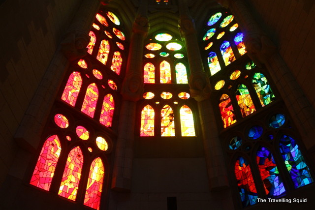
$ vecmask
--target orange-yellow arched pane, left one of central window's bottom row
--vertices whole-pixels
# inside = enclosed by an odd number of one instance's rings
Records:
[[[141,111],[140,136],[154,136],[155,112],[149,104]]]

